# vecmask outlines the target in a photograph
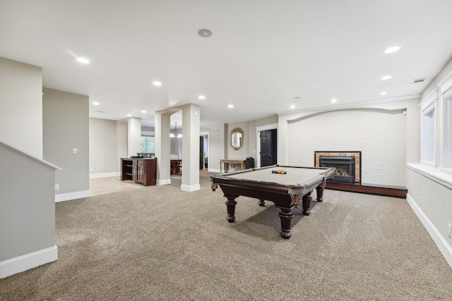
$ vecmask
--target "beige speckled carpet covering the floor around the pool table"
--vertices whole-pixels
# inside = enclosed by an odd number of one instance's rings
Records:
[[[451,300],[452,269],[405,199],[326,190],[311,215],[172,185],[57,206],[59,260],[0,280],[1,300]],[[315,190],[314,190],[315,197]]]

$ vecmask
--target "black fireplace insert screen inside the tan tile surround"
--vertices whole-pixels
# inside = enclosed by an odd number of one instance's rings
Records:
[[[321,167],[335,167],[335,176],[328,181],[340,183],[355,183],[354,156],[320,156]]]

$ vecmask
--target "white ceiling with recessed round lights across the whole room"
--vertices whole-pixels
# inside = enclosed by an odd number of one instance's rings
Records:
[[[91,117],[153,126],[194,103],[208,127],[418,95],[451,59],[451,13],[451,0],[0,0],[0,56],[89,95]]]

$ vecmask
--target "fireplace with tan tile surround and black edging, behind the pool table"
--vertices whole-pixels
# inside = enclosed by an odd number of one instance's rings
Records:
[[[328,182],[361,183],[361,152],[314,152],[314,166],[336,168]]]

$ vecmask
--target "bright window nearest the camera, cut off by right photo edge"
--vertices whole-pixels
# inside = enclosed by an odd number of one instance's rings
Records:
[[[452,174],[452,72],[437,87],[441,102],[440,170]]]

